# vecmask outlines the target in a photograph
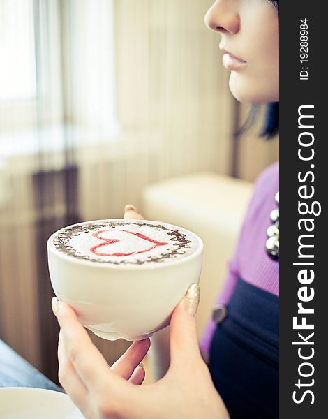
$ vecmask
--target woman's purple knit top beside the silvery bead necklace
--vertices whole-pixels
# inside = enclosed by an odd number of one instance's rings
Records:
[[[228,275],[216,304],[228,304],[238,277],[269,293],[279,295],[279,263],[271,260],[265,251],[267,228],[271,225],[270,212],[277,207],[274,196],[278,190],[277,162],[264,170],[255,182],[237,249],[228,264]],[[216,323],[209,321],[200,342],[200,348],[206,358],[215,328]]]

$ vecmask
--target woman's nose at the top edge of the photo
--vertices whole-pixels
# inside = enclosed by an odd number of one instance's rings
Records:
[[[240,16],[236,4],[232,0],[216,0],[204,17],[206,26],[222,34],[237,34]]]

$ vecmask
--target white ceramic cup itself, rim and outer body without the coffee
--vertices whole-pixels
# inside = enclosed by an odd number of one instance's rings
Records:
[[[87,221],[84,224],[135,220]],[[170,323],[174,307],[191,284],[198,283],[203,244],[190,231],[158,221],[165,228],[186,234],[195,251],[162,263],[114,265],[70,256],[54,246],[54,233],[47,242],[50,279],[54,293],[77,312],[86,328],[108,340],[135,341],[151,336]]]

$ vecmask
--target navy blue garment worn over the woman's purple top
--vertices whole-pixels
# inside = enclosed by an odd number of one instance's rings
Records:
[[[209,370],[231,419],[279,417],[279,297],[238,280]]]

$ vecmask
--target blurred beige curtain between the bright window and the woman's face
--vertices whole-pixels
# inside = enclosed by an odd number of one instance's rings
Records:
[[[204,27],[210,4],[115,2],[120,133],[115,144],[82,151],[83,219],[121,216],[124,203],[139,204],[149,182],[229,172],[234,108],[218,36]]]

